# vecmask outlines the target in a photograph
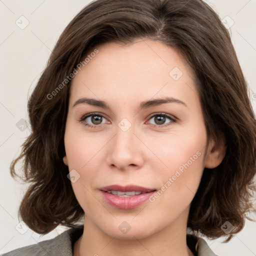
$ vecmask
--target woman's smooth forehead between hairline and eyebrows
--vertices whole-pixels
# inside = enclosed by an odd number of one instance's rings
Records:
[[[154,95],[198,97],[192,69],[170,46],[137,40],[126,45],[109,42],[96,49],[96,54],[90,55],[94,49],[87,52],[86,64],[72,79],[72,102],[85,95],[101,99],[107,95],[112,101],[116,96],[126,101]]]

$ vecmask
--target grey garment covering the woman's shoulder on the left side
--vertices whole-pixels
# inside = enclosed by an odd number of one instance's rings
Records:
[[[1,256],[72,256],[73,243],[82,234],[83,226],[71,227],[56,237],[17,248]]]

